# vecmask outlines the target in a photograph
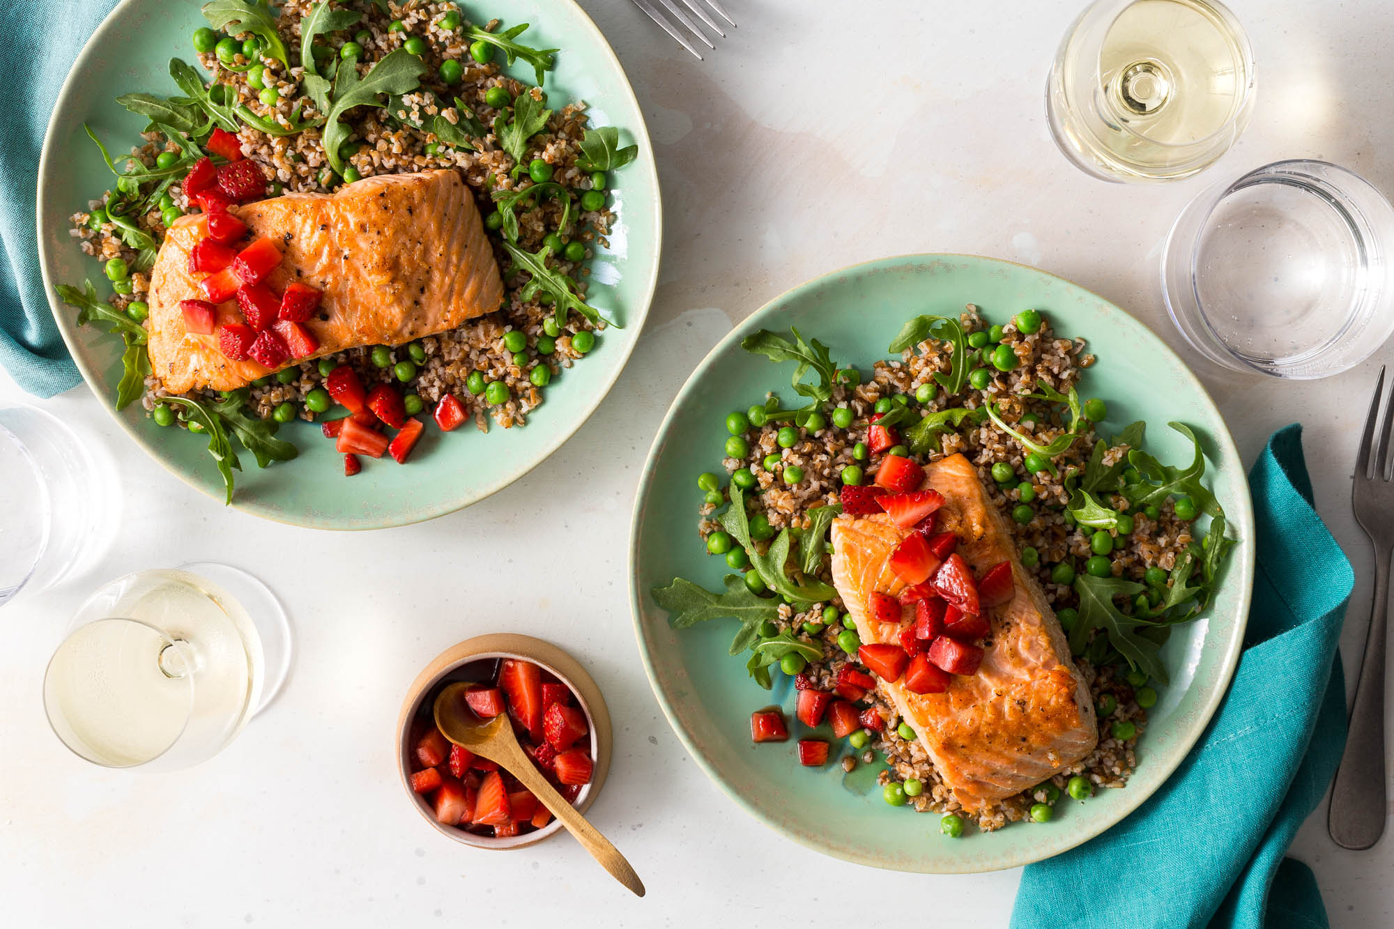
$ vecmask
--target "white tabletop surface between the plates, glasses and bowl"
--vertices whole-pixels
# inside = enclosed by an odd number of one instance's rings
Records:
[[[1281,158],[1323,158],[1394,191],[1394,92],[1377,67],[1394,45],[1394,17],[1387,0],[1235,0],[1259,61],[1248,133],[1199,179],[1124,187],[1075,170],[1046,126],[1044,77],[1075,0],[855,10],[723,1],[740,28],[704,63],[627,0],[583,1],[650,123],[665,261],[644,339],[613,393],[506,491],[406,529],[293,529],[185,487],[125,441],[107,399],[86,388],[40,405],[114,456],[124,518],[100,561],[0,612],[0,921],[535,926],[556,916],[659,926],[737,915],[792,925],[866,900],[889,877],[903,898],[933,900],[951,925],[955,915],[1006,922],[1019,872],[887,876],[821,858],[740,812],[682,749],[640,665],[626,593],[630,511],[654,431],[736,321],[809,278],[882,255],[963,251],[1037,265],[1128,307],[1184,349],[1157,259],[1172,216],[1203,186]],[[1372,586],[1349,476],[1376,368],[1388,360],[1386,346],[1313,384],[1195,363],[1246,462],[1274,428],[1306,427],[1317,506],[1358,575],[1342,639],[1349,689]],[[0,402],[20,399],[0,372]],[[244,566],[283,597],[298,649],[286,690],[197,769],[135,774],[77,760],[49,732],[39,699],[67,617],[100,582],[188,559]],[[441,649],[498,629],[556,640],[604,689],[615,766],[591,815],[643,875],[647,900],[629,898],[569,840],[474,852],[443,841],[407,805],[393,760],[406,685]],[[1323,806],[1292,854],[1316,870],[1334,926],[1394,922],[1394,830],[1372,851],[1347,852],[1327,837]]]

